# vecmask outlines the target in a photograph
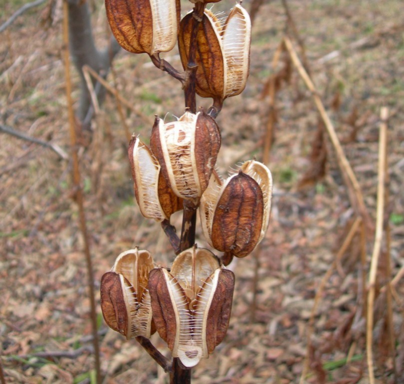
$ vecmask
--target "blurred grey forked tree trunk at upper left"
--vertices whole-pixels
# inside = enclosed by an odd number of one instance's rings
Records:
[[[91,27],[91,15],[88,3],[81,0],[67,0],[69,10],[69,49],[73,62],[80,74],[80,100],[76,115],[82,122],[83,128],[88,128],[93,115],[90,94],[84,79],[82,67],[88,65],[101,76],[106,77],[113,57],[119,52],[120,46],[111,37],[111,43],[103,51],[97,49],[94,43]],[[94,87],[98,100],[102,103],[105,89],[96,84]]]

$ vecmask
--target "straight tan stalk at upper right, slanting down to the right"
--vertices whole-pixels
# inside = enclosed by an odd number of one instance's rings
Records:
[[[347,177],[351,184],[346,181],[348,191],[351,192],[351,187],[353,188],[352,193],[349,193],[350,200],[351,200],[351,206],[357,210],[357,213],[362,216],[364,219],[364,222],[366,224],[370,224],[370,218],[368,211],[366,209],[365,203],[364,203],[364,198],[361,190],[361,186],[358,183],[358,180],[355,176],[355,173],[347,159],[344,153],[344,149],[341,146],[340,140],[338,139],[337,133],[335,132],[334,125],[331,122],[330,117],[328,116],[326,109],[324,107],[323,102],[321,101],[321,98],[313,84],[312,79],[310,78],[309,74],[303,67],[295,49],[293,48],[292,42],[288,37],[284,37],[285,41],[285,46],[290,54],[290,57],[296,66],[300,76],[302,77],[303,81],[306,83],[307,87],[309,90],[312,92],[312,96],[314,98],[314,102],[320,112],[320,115],[324,121],[324,124],[327,128],[328,134],[330,136],[331,142],[333,143],[333,146],[337,152],[337,160],[338,164],[340,166],[341,172],[344,177]]]

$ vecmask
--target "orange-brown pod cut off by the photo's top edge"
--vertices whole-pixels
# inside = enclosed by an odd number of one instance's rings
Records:
[[[179,0],[105,0],[112,33],[132,53],[170,51],[176,42]]]

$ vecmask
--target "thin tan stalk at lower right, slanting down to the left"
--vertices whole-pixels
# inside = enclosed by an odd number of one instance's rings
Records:
[[[323,279],[320,282],[320,285],[317,289],[316,292],[316,296],[314,298],[314,305],[310,314],[310,320],[309,320],[309,326],[307,328],[307,353],[306,353],[306,358],[305,358],[305,363],[303,366],[303,371],[302,371],[302,375],[300,377],[300,384],[304,383],[305,377],[309,371],[309,359],[310,359],[310,349],[312,346],[312,334],[313,334],[313,328],[314,328],[314,317],[316,316],[317,313],[317,309],[319,307],[320,304],[320,298],[321,295],[323,294],[323,290],[324,287],[326,286],[327,281],[330,279],[334,269],[337,266],[337,263],[340,261],[340,259],[343,257],[343,255],[345,254],[345,252],[347,251],[348,247],[350,246],[353,238],[355,237],[356,233],[358,232],[359,229],[359,225],[362,222],[362,218],[359,216],[356,218],[356,220],[354,221],[354,223],[352,224],[351,229],[348,232],[347,237],[344,240],[344,243],[342,244],[340,250],[338,251],[336,257],[334,258],[333,264],[331,264],[330,268],[328,269],[328,271],[326,272],[326,274],[323,276]]]

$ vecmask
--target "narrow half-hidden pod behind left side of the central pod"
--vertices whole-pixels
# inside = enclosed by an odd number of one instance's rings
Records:
[[[157,159],[138,137],[132,137],[130,140],[128,155],[133,189],[142,215],[162,221],[182,209],[182,201],[162,176]]]

